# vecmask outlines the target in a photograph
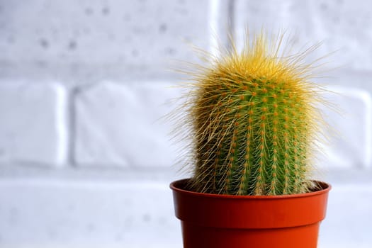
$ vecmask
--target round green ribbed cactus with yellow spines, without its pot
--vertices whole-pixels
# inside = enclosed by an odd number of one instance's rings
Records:
[[[186,103],[195,167],[190,188],[201,193],[285,195],[310,190],[312,149],[319,132],[318,86],[306,52],[279,52],[254,36],[200,67]]]

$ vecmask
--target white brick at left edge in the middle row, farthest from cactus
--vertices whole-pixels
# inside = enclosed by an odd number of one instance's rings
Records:
[[[67,157],[67,94],[59,84],[0,83],[0,162],[53,167]]]

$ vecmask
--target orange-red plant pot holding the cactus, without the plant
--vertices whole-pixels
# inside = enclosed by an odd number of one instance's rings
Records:
[[[297,195],[227,196],[187,191],[188,180],[170,185],[184,248],[317,247],[329,184]]]

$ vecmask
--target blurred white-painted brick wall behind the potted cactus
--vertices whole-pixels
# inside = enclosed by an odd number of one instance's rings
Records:
[[[0,0],[0,247],[181,248],[171,124],[191,45],[244,30],[322,42],[314,79],[341,114],[317,165],[320,248],[372,247],[372,3],[367,0]],[[219,41],[215,40],[219,38]]]

